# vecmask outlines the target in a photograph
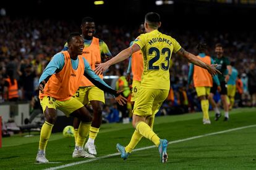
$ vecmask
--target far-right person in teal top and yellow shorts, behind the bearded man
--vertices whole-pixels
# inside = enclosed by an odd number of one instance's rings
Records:
[[[236,95],[236,80],[238,76],[238,71],[234,67],[234,62],[230,63],[232,67],[232,73],[228,80],[228,97],[229,97],[229,110],[233,108],[234,105],[234,96]]]

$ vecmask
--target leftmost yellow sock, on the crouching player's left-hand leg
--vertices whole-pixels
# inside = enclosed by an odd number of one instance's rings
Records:
[[[45,150],[49,137],[51,136],[52,129],[53,129],[53,124],[45,121],[40,132],[39,150]]]

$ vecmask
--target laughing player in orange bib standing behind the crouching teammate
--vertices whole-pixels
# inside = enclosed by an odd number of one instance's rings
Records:
[[[84,57],[89,63],[92,69],[95,68],[96,63],[101,63],[101,58],[106,59],[111,57],[112,54],[108,49],[107,44],[94,36],[95,34],[95,20],[91,17],[85,17],[81,23],[82,37],[85,44],[83,48],[82,57]],[[65,44],[63,51],[68,49]],[[103,75],[100,75],[103,79]],[[85,144],[85,148],[88,153],[96,155],[95,139],[100,131],[102,121],[102,110],[105,103],[105,94],[98,87],[96,87],[88,78],[82,77],[82,81],[79,84],[79,89],[74,94],[74,97],[78,99],[83,105],[90,104],[93,108],[93,120],[90,127],[89,138]],[[77,139],[77,129],[79,127],[80,120],[74,119],[74,137]]]

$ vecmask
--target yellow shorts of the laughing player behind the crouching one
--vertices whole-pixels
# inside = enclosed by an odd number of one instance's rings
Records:
[[[96,86],[79,87],[73,97],[83,103],[83,105],[90,104],[90,101],[92,100],[98,100],[105,103],[104,91],[101,91],[101,89]]]

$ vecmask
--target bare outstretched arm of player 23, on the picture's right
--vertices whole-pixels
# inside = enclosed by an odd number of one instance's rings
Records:
[[[197,59],[197,57],[195,57],[194,54],[187,52],[183,48],[181,48],[177,52],[177,54],[186,57],[186,59],[189,60],[190,63],[194,63],[194,65],[198,65],[199,67],[205,68],[211,75],[221,74],[221,72],[215,68],[216,65],[208,65],[207,63],[202,62],[200,59]]]

